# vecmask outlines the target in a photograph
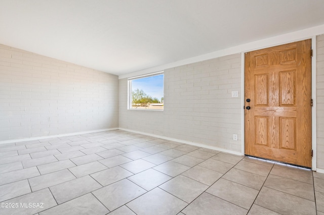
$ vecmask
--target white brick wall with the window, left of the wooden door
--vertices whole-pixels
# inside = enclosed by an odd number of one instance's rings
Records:
[[[165,70],[164,112],[127,110],[121,79],[119,127],[241,151],[240,89],[239,53]]]

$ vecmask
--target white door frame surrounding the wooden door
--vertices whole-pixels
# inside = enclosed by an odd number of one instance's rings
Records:
[[[255,51],[263,48],[269,48],[277,45],[284,45],[291,42],[298,42],[306,39],[311,39],[311,49],[313,50],[313,56],[311,58],[311,90],[312,90],[312,171],[316,171],[316,36],[306,37],[296,40],[290,40],[285,42],[280,42],[276,44],[271,44],[267,46],[260,46],[254,49],[243,50],[241,52],[241,151],[242,155],[245,154],[245,114],[244,114],[244,105],[245,105],[245,53],[249,51]]]

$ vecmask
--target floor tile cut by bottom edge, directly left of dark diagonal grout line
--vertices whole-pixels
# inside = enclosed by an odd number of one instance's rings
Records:
[[[216,211],[217,213],[215,213]],[[245,215],[248,210],[205,192],[184,208],[182,212],[186,215]]]

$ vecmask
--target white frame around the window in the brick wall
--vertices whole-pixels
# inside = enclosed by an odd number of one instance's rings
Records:
[[[160,72],[155,72],[155,73],[150,73],[150,74],[146,74],[146,75],[140,75],[140,76],[134,76],[131,78],[128,78],[127,82],[127,86],[128,86],[128,93],[127,93],[127,109],[131,110],[131,111],[164,111],[164,107],[163,109],[135,109],[132,108],[132,81],[133,80],[137,80],[137,79],[141,79],[141,78],[148,78],[148,77],[152,77],[152,76],[157,76],[157,75],[163,75],[163,97],[164,97],[164,71],[160,71]]]

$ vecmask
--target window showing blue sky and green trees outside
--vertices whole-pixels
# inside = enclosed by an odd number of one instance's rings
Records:
[[[163,72],[128,79],[129,109],[163,110]]]

